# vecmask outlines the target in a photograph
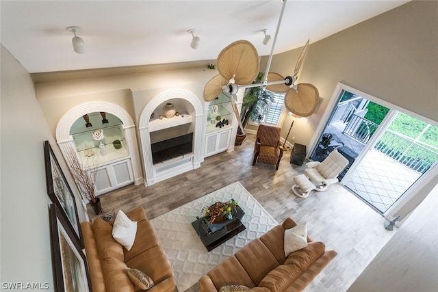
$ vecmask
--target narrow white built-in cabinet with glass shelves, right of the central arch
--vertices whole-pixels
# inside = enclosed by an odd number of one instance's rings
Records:
[[[233,108],[228,96],[221,93],[208,105],[206,113],[204,157],[229,150],[233,130]]]

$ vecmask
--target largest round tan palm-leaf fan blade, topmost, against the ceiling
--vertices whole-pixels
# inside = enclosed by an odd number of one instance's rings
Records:
[[[259,74],[259,55],[247,40],[237,40],[225,47],[218,55],[219,74],[229,81],[234,77],[237,85],[247,85]]]

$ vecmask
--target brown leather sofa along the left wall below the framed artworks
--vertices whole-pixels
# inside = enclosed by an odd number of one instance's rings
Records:
[[[93,292],[143,291],[127,276],[128,267],[140,269],[152,278],[155,286],[148,291],[176,291],[172,269],[144,209],[139,207],[126,215],[138,222],[136,239],[129,251],[112,237],[114,220],[108,223],[96,218],[92,223],[81,223]]]

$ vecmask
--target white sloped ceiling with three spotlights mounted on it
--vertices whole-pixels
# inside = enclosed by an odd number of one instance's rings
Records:
[[[274,53],[302,47],[407,1],[298,1],[285,6]],[[235,40],[269,55],[281,0],[1,1],[1,43],[29,72],[216,59]],[[73,51],[77,25],[86,53]],[[198,49],[190,48],[196,29]],[[261,29],[272,35],[263,46]]]

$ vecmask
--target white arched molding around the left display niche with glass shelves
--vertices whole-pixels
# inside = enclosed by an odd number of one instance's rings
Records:
[[[76,120],[82,118],[86,114],[93,112],[105,112],[116,116],[123,123],[121,127],[125,132],[125,142],[127,152],[130,156],[130,163],[133,172],[133,181],[136,185],[140,185],[143,182],[142,169],[140,164],[140,153],[138,150],[138,142],[136,135],[136,125],[133,122],[131,116],[118,105],[105,102],[90,102],[77,105],[68,110],[64,116],[60,119],[56,127],[56,142],[60,146],[64,159],[68,161],[68,153],[70,151],[76,151],[75,142],[73,136],[70,135],[70,129]]]

